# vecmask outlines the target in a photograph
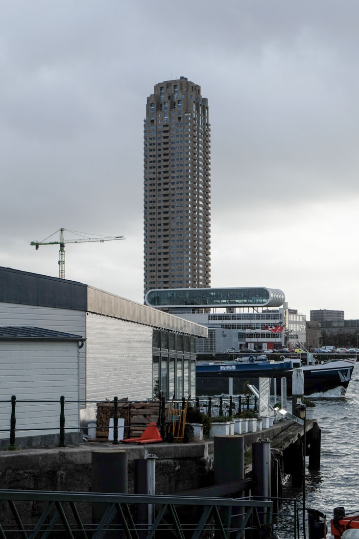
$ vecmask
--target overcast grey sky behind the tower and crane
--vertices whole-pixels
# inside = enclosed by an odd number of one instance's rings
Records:
[[[213,287],[281,288],[359,318],[357,0],[1,3],[0,265],[142,302],[143,117],[201,85],[211,122]],[[71,234],[68,234],[70,237]],[[73,236],[71,236],[73,237]]]

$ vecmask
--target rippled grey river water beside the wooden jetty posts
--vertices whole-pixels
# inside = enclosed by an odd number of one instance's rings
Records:
[[[334,507],[344,506],[346,513],[359,514],[359,364],[354,367],[345,396],[332,390],[309,398],[315,400],[314,417],[322,433],[319,472],[308,470],[307,457],[306,507],[325,513],[330,529]],[[284,495],[295,497],[302,506],[300,490],[288,485]],[[281,539],[290,537],[284,530],[279,535]],[[332,537],[330,531],[328,537]]]

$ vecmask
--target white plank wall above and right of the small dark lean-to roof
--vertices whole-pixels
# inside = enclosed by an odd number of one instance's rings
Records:
[[[0,324],[3,326],[37,326],[66,331],[86,337],[86,313],[82,310],[55,309],[0,302]],[[86,398],[86,342],[80,349],[79,391]]]

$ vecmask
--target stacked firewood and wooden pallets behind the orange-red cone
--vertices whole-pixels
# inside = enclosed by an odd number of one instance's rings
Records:
[[[113,418],[114,403],[97,403],[96,438],[108,438],[109,420]],[[130,402],[119,400],[118,417],[125,419],[125,438],[140,437],[149,423],[157,423],[160,412],[160,401],[150,400],[144,402]],[[168,406],[166,405],[165,417],[168,418]]]

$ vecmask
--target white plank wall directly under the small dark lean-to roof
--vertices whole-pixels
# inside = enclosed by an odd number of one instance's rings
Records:
[[[77,431],[78,403],[68,400],[78,400],[77,342],[0,341],[0,395],[1,400],[9,400],[0,403],[1,439],[10,437],[10,432],[2,430],[10,429],[12,395],[17,398],[17,438],[58,433],[61,395],[65,397],[65,427],[72,427],[65,432]],[[56,402],[20,402],[33,399]]]

